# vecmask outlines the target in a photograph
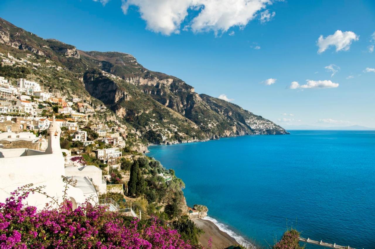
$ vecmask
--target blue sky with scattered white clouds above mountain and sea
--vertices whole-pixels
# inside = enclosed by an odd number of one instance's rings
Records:
[[[375,1],[230,1],[2,0],[0,17],[130,53],[281,126],[375,127]]]

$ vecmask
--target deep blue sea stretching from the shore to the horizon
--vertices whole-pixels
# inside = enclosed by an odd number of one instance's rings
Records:
[[[183,179],[189,206],[207,205],[243,237],[273,244],[293,224],[306,238],[375,248],[375,131],[293,130],[148,149]]]

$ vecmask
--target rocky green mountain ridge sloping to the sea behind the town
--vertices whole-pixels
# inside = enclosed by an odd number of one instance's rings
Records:
[[[22,58],[33,53],[33,62],[40,67],[23,67],[30,69],[30,76],[44,89],[104,103],[145,143],[288,133],[238,105],[196,93],[177,77],[150,71],[132,55],[84,52],[58,40],[40,38],[1,18],[0,50]]]

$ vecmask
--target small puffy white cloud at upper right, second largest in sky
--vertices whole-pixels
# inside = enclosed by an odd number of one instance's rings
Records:
[[[359,36],[357,36],[352,31],[342,32],[341,30],[338,30],[334,34],[329,35],[326,38],[321,35],[317,41],[317,45],[319,47],[318,53],[323,53],[330,46],[335,46],[336,52],[340,50],[347,51],[350,49],[351,43],[358,40]]]

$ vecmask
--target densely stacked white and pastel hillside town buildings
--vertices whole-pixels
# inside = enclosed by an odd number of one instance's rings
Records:
[[[20,61],[8,53],[1,64],[12,65],[15,61],[27,63],[26,59]],[[46,191],[62,193],[60,177],[64,176],[75,181],[69,190],[73,206],[91,198],[93,203],[103,202],[119,209],[112,199],[99,200],[107,193],[107,183],[113,185],[109,192],[124,192],[123,184],[113,184],[111,171],[120,168],[126,127],[118,122],[89,122],[92,115],[106,108],[80,98],[52,94],[31,80],[20,78],[10,82],[0,76],[0,163],[12,165],[9,173],[18,179],[1,181],[2,199],[30,179],[45,183]],[[40,196],[32,201],[37,207],[45,202]],[[131,208],[127,212],[136,216]]]

